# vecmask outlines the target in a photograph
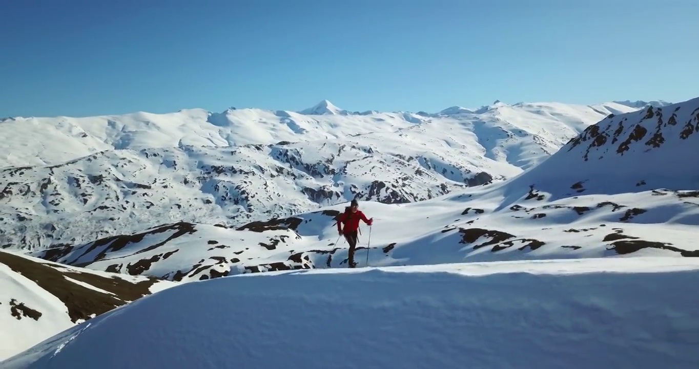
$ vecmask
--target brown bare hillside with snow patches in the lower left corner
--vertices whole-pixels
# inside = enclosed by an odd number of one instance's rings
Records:
[[[173,285],[0,251],[0,360]]]

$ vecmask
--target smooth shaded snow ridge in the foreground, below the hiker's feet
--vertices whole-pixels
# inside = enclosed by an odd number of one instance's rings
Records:
[[[276,274],[181,284],[0,367],[699,366],[699,296],[677,287],[699,284],[695,258]]]

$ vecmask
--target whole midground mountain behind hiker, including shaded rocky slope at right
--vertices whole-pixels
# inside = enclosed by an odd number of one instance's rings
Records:
[[[698,132],[699,98],[610,115],[510,180],[419,202],[361,202],[376,221],[372,238],[363,229],[357,259],[360,266],[366,266],[366,259],[370,266],[391,266],[629,254],[699,256],[694,236],[699,169],[668,165],[674,158],[699,154]],[[338,239],[334,222],[344,206],[251,222],[235,230],[172,224],[33,255],[174,280],[179,280],[175,275],[201,279],[341,268],[346,266],[347,244]],[[165,260],[182,245],[187,252]],[[152,272],[129,271],[129,266],[150,263],[155,263]],[[190,274],[200,268],[215,272]]]

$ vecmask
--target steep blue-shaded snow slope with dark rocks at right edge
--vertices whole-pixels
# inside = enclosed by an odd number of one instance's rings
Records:
[[[649,189],[699,189],[699,97],[612,115],[507,184],[533,185],[552,198]],[[517,195],[512,195],[517,196]]]

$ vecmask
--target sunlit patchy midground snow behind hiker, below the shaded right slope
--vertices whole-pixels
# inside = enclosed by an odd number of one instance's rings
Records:
[[[512,201],[507,191],[506,185],[491,185],[403,205],[360,201],[360,209],[375,222],[371,228],[360,226],[355,260],[359,266],[416,266],[627,257],[636,252],[699,254],[699,194],[691,191],[580,194],[554,201]],[[279,268],[345,268],[348,245],[338,239],[334,221],[345,205],[294,215],[284,222],[296,222],[293,229],[174,224],[168,230],[125,234],[128,242],[119,243],[115,251],[111,241],[87,243],[52,260],[182,281]],[[178,233],[180,229],[189,232]],[[44,250],[31,254],[48,255]],[[94,257],[98,254],[103,256]],[[129,268],[137,264],[138,271]]]

